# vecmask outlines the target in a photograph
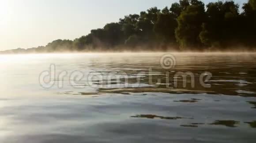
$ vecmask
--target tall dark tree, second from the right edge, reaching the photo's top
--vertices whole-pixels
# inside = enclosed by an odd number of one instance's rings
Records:
[[[238,8],[233,1],[207,4],[207,20],[200,32],[200,40],[205,46],[223,49],[237,43],[241,35],[241,30],[237,29],[240,25]]]

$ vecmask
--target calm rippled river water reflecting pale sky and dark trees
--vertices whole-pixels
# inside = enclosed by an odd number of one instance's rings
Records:
[[[174,53],[171,69],[162,55],[0,55],[0,143],[255,143],[256,54]],[[50,64],[85,76],[42,88]]]

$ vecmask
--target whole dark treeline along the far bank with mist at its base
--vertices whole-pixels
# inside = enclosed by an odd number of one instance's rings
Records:
[[[162,10],[151,7],[124,16],[74,40],[57,39],[46,46],[1,53],[124,50],[256,50],[256,0],[241,8],[231,0],[206,5],[199,0],[180,0]]]

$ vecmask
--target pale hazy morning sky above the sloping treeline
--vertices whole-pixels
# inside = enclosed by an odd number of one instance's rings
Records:
[[[128,14],[178,0],[0,0],[0,50],[75,39]],[[202,0],[205,4],[209,1]],[[234,0],[242,5],[247,0]]]

